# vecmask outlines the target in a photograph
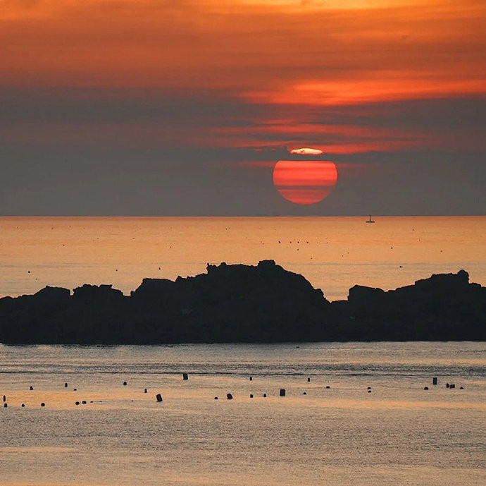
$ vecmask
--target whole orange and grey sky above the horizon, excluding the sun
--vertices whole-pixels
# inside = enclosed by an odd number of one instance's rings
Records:
[[[485,20],[484,0],[0,0],[0,215],[486,214]],[[273,181],[300,147],[337,168],[313,204]]]

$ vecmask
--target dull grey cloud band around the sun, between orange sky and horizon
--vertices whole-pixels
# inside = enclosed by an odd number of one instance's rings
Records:
[[[385,127],[396,130],[397,140],[401,130],[413,129],[451,144],[332,154],[339,170],[337,187],[327,200],[309,207],[292,205],[273,188],[271,163],[287,153],[282,135],[264,133],[264,128],[268,119],[285,119],[284,107],[246,104],[230,92],[182,96],[154,90],[40,88],[3,88],[0,106],[0,214],[486,212],[483,99],[309,111],[306,123],[315,126]],[[148,132],[140,135],[137,126]],[[228,127],[241,130],[241,142],[244,130],[254,129],[252,140],[261,138],[258,145],[266,149],[256,150],[254,143],[238,146],[238,140],[225,146],[224,132],[214,146],[218,129]],[[208,143],[206,133],[213,137]],[[350,136],[299,133],[309,143]],[[274,147],[269,140],[275,140]]]

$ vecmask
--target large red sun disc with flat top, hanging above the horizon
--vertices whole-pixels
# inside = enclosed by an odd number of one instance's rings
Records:
[[[337,169],[329,160],[279,160],[273,185],[290,202],[309,205],[327,198],[337,183]]]

